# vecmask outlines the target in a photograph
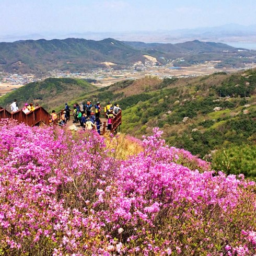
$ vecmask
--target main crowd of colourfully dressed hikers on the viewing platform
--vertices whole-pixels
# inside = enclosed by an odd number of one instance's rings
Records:
[[[121,110],[118,104],[112,104],[108,102],[107,106],[104,107],[104,114],[105,117],[108,119],[108,130],[112,130],[112,121],[115,115]],[[68,120],[70,120],[71,116],[71,107],[65,103],[64,111],[61,115],[61,119],[59,124],[65,125]],[[73,116],[74,120],[73,123],[79,123],[83,129],[91,130],[97,129],[97,132],[100,134],[100,129],[102,122],[100,120],[100,113],[101,113],[101,106],[100,102],[98,101],[96,104],[92,104],[91,101],[87,101],[86,103],[80,102],[75,103],[73,105]],[[51,113],[51,122],[56,122],[57,114],[55,110]]]

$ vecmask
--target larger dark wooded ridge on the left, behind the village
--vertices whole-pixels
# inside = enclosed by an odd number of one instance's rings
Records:
[[[0,71],[10,73],[40,74],[55,68],[85,72],[106,67],[102,62],[113,62],[117,68],[124,68],[144,60],[142,51],[111,38],[101,41],[67,38],[0,43]]]

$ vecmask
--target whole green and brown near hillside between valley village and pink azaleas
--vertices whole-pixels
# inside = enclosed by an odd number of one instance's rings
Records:
[[[0,98],[0,106],[14,98],[19,104],[39,101],[48,111],[62,109],[65,102],[72,106],[89,99],[103,108],[111,101],[122,108],[121,132],[141,138],[160,127],[167,144],[213,161],[216,169],[254,177],[255,88],[255,69],[195,78],[145,77],[103,88],[51,78]]]

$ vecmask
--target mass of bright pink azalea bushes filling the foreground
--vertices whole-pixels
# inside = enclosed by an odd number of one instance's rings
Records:
[[[254,182],[167,146],[158,129],[129,140],[138,151],[117,157],[118,138],[2,122],[0,255],[255,253]]]

